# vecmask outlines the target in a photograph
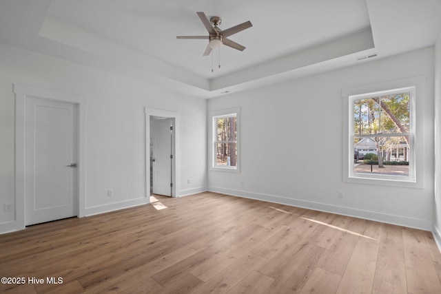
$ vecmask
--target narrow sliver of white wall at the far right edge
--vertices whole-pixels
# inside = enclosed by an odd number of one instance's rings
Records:
[[[435,205],[433,235],[441,249],[441,34],[435,44]]]

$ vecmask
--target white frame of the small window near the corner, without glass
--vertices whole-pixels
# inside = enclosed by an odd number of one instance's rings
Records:
[[[210,170],[212,171],[227,171],[227,172],[240,172],[240,108],[234,107],[230,109],[218,110],[216,112],[210,112],[209,114],[211,118],[212,124],[212,140],[211,140],[211,149],[212,149],[212,159]],[[218,165],[216,158],[216,143],[217,140],[217,120],[218,118],[229,118],[232,116],[236,116],[236,167],[226,166],[226,165]]]

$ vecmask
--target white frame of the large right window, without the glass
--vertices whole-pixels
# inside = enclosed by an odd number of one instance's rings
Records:
[[[343,181],[369,185],[385,185],[393,187],[411,187],[422,189],[424,186],[424,129],[423,129],[423,103],[424,103],[424,76],[403,78],[396,81],[376,83],[361,87],[342,90],[343,98]],[[353,171],[354,148],[353,139],[360,137],[353,132],[353,101],[360,98],[384,96],[399,92],[411,92],[410,103],[410,129],[409,133],[409,176],[392,176],[382,174],[360,174]],[[399,133],[393,133],[395,134]],[[391,134],[373,134],[371,137],[389,136]],[[370,136],[370,135],[369,135]],[[404,136],[404,135],[403,135]]]

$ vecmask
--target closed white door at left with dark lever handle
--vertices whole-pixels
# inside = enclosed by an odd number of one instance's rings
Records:
[[[25,103],[25,224],[76,216],[76,105],[41,98]]]

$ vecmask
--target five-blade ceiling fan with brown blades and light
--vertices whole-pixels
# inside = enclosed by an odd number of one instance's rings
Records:
[[[198,17],[201,19],[203,25],[208,31],[208,36],[176,36],[177,39],[207,39],[209,43],[207,49],[205,49],[204,56],[207,56],[212,52],[214,48],[219,48],[221,44],[227,45],[231,48],[243,51],[245,47],[240,45],[230,39],[227,36],[241,32],[247,28],[252,27],[251,21],[245,21],[245,23],[240,23],[240,25],[235,25],[227,30],[220,30],[218,25],[220,25],[220,17],[207,18],[204,12],[196,12]]]

